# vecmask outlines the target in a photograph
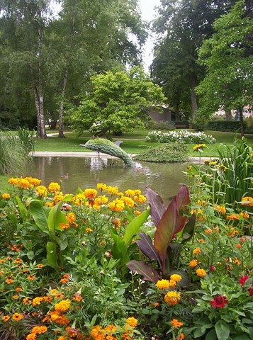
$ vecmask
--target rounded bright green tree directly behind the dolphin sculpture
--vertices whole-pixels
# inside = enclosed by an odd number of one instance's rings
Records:
[[[140,67],[128,72],[109,71],[91,80],[90,93],[72,115],[73,127],[80,133],[90,130],[94,135],[105,135],[144,127],[149,120],[147,108],[165,100],[162,89]]]

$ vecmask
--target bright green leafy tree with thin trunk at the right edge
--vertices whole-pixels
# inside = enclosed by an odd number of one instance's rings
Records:
[[[214,23],[215,33],[203,42],[200,62],[206,67],[205,79],[198,86],[201,96],[199,115],[207,115],[220,105],[242,108],[253,103],[253,22],[247,1],[240,0],[232,10]]]

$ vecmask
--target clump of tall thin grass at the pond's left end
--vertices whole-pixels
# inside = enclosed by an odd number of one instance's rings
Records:
[[[28,163],[28,152],[20,138],[10,132],[0,134],[0,174],[20,175]]]

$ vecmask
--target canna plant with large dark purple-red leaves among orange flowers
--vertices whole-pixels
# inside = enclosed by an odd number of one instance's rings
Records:
[[[172,263],[175,260],[178,261],[182,245],[191,239],[194,232],[195,215],[192,215],[190,219],[187,215],[184,215],[190,202],[189,190],[186,186],[181,186],[179,192],[166,208],[161,196],[147,187],[147,202],[150,204],[150,215],[156,227],[154,244],[151,237],[145,232],[138,234],[140,239],[136,243],[145,256],[151,261],[157,261],[157,266],[162,275],[171,275],[175,272]],[[181,231],[181,243],[172,242],[174,235]],[[145,262],[132,260],[127,263],[127,266],[131,271],[141,274],[144,280],[156,283],[159,279],[158,271]],[[186,278],[184,272],[181,274]]]

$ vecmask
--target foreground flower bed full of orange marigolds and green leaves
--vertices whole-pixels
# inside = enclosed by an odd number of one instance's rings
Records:
[[[0,339],[250,339],[253,198],[217,205],[186,172],[191,196],[168,206],[150,188],[9,179]]]

